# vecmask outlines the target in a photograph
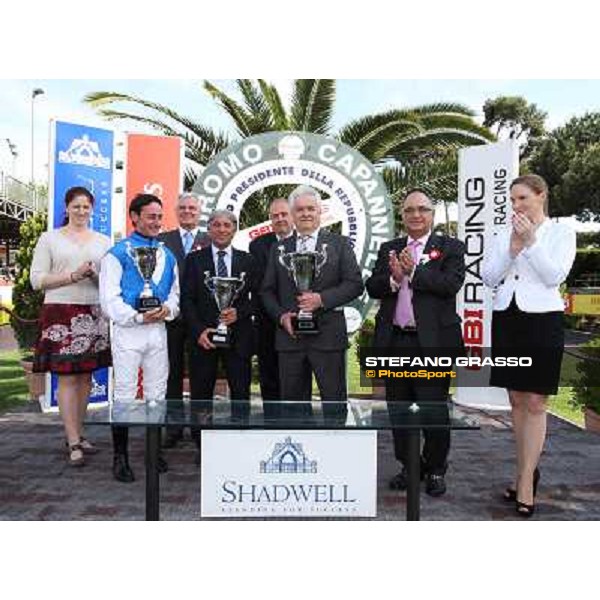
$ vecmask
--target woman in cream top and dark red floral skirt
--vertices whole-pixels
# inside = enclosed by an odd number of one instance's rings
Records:
[[[40,237],[30,280],[44,290],[34,370],[58,376],[58,405],[69,464],[81,466],[95,452],[83,433],[92,372],[110,365],[108,322],[98,295],[98,266],[110,239],[89,228],[94,197],[83,187],[65,196],[66,224]]]

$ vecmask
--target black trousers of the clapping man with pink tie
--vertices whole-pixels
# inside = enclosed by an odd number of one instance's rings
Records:
[[[416,333],[403,333],[394,327],[391,354],[414,355],[421,350],[419,338]],[[439,403],[439,413],[436,421],[449,420],[448,413],[448,379],[439,382],[425,382],[419,379],[388,379],[386,380],[386,401],[388,411],[393,418],[396,404],[399,402]],[[407,463],[406,433],[401,429],[392,430],[394,436],[394,454],[403,465]],[[450,451],[449,429],[425,429],[423,431],[423,451],[421,455],[421,469],[424,473],[443,475],[448,468],[448,453]]]

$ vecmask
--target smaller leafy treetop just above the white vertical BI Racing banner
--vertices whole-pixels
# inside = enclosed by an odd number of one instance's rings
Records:
[[[483,124],[496,128],[499,138],[507,136],[519,142],[521,157],[531,153],[537,139],[546,131],[547,113],[522,96],[498,96],[483,105]]]

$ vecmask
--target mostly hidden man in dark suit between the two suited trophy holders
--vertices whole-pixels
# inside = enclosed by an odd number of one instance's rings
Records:
[[[269,219],[272,231],[252,240],[248,250],[256,262],[257,288],[260,289],[267,270],[269,254],[274,244],[281,243],[293,234],[292,215],[286,198],[277,198],[269,206]],[[258,370],[260,391],[263,400],[281,399],[279,386],[279,363],[275,350],[275,331],[277,326],[267,314],[262,302],[257,303],[254,316],[257,333]],[[267,408],[267,406],[265,406]]]

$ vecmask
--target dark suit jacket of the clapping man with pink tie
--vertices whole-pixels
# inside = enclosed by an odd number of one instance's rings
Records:
[[[396,238],[381,246],[373,274],[366,286],[372,298],[381,300],[375,319],[374,346],[391,343],[392,324],[398,292],[390,286],[389,252],[401,252],[407,238]],[[437,249],[439,258],[418,265],[412,279],[413,311],[419,343],[427,348],[455,348],[462,345],[461,320],[456,313],[456,294],[465,279],[465,246],[445,235],[432,234],[423,256]]]

